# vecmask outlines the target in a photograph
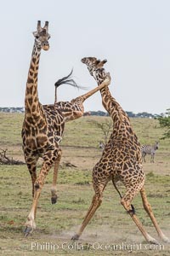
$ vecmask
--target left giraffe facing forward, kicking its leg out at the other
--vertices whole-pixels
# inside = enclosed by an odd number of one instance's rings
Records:
[[[37,93],[37,73],[41,49],[48,50],[48,21],[41,27],[41,22],[37,22],[37,32],[33,32],[35,43],[31,55],[31,64],[26,83],[25,99],[25,119],[22,127],[23,151],[26,164],[31,174],[33,201],[31,212],[26,221],[25,235],[27,236],[35,227],[37,212],[37,201],[40,196],[45,177],[51,166],[54,164],[54,180],[52,186],[52,203],[56,202],[56,178],[61,157],[59,142],[65,127],[66,119],[76,119],[83,114],[82,102],[94,92],[110,84],[109,76],[105,79],[100,88],[91,90],[84,96],[77,97],[71,101],[71,108],[68,104],[44,105],[38,100]],[[59,107],[60,106],[60,107]],[[78,107],[79,108],[78,108]],[[69,106],[70,107],[70,106]],[[37,177],[37,160],[42,157],[42,167]]]

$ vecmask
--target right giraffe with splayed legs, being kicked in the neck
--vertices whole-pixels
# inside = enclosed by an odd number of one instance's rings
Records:
[[[89,73],[94,76],[99,84],[105,79],[105,69],[102,68],[106,60],[99,61],[96,58],[88,57],[83,58],[82,63],[88,66]],[[146,241],[150,243],[158,243],[156,239],[151,237],[145,230],[143,225],[139,222],[135,214],[131,201],[134,196],[140,192],[142,197],[144,210],[150,216],[152,223],[154,224],[158,236],[163,241],[169,242],[167,236],[165,236],[159,225],[156,222],[156,218],[150,204],[147,200],[144,189],[144,172],[140,153],[140,144],[138,137],[133,131],[130,124],[130,120],[127,113],[122,109],[120,104],[116,102],[116,99],[111,96],[111,92],[108,87],[100,90],[102,96],[103,106],[106,111],[111,115],[113,121],[113,131],[108,143],[105,145],[103,154],[99,162],[94,166],[93,170],[93,185],[94,185],[94,197],[91,206],[82,222],[77,234],[72,237],[72,240],[78,240],[82,235],[82,231],[87,226],[90,219],[94,216],[94,212],[99,208],[102,202],[103,191],[109,181],[112,180],[113,185],[116,188],[116,182],[121,181],[126,187],[125,195],[121,195],[119,190],[117,192],[121,196],[121,203],[125,210],[128,212],[134,223],[137,225]]]

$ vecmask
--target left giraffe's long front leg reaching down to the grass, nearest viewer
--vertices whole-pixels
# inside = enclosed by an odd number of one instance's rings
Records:
[[[41,194],[42,187],[45,181],[45,177],[48,175],[48,172],[53,165],[54,161],[58,157],[59,149],[55,149],[54,151],[49,150],[43,155],[43,163],[39,176],[37,177],[36,182],[34,183],[34,197],[31,206],[31,212],[29,213],[26,220],[26,229],[24,230],[25,236],[28,236],[32,233],[32,231],[36,228],[36,213],[37,213],[37,202],[38,198]]]

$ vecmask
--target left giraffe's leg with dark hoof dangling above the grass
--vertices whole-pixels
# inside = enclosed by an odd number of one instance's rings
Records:
[[[59,162],[61,159],[62,151],[59,149],[59,154],[57,159],[54,161],[54,177],[53,177],[53,183],[52,183],[52,188],[51,188],[51,202],[52,204],[55,204],[57,202],[57,189],[56,189],[56,184],[57,184],[57,176],[58,176],[58,170],[59,170]]]

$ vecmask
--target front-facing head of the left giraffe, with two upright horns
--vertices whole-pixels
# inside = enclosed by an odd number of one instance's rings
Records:
[[[37,46],[37,49],[49,49],[48,39],[50,38],[50,35],[48,34],[48,21],[45,21],[45,26],[41,26],[41,21],[37,21],[37,31],[33,32],[33,35],[35,37],[35,44]]]

